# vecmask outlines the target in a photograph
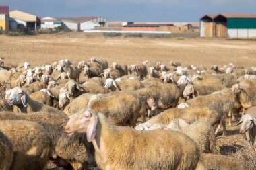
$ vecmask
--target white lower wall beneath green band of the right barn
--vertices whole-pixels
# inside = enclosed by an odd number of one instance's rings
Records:
[[[255,38],[256,29],[228,29],[228,38]]]

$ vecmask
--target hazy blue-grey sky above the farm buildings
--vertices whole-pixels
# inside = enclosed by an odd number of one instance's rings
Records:
[[[256,0],[1,0],[39,17],[102,16],[110,21],[198,22],[211,13],[256,13]]]

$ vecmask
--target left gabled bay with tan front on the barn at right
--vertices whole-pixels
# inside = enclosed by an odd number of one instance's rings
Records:
[[[215,23],[214,18],[217,15],[210,14],[204,15],[200,19],[200,36],[201,37],[214,37],[215,36]]]

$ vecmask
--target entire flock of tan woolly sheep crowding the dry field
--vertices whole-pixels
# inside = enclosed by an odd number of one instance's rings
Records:
[[[253,149],[255,67],[108,67],[100,58],[34,68],[1,58],[0,67],[3,170],[45,169],[49,160],[82,169],[81,148],[95,169],[245,169],[220,155],[226,120],[241,124]]]

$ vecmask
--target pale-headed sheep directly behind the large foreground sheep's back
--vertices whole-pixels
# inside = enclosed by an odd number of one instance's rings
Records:
[[[177,130],[192,138],[197,143],[202,153],[220,153],[220,148],[216,146],[214,130],[210,124],[207,124],[207,122],[197,121],[192,124],[187,124],[185,120],[178,118],[172,120],[170,124],[165,127],[164,124],[162,124],[162,126],[161,124],[159,126],[159,124],[160,123],[158,123],[158,126],[156,126],[156,124],[152,124],[152,126],[145,130],[155,130],[158,128],[164,128],[165,130]]]

